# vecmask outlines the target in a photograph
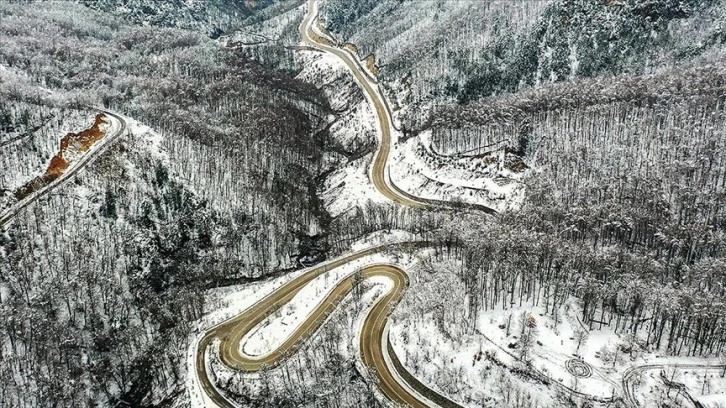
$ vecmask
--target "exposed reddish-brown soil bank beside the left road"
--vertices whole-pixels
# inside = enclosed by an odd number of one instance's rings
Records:
[[[66,157],[68,153],[81,154],[87,152],[94,143],[106,136],[106,132],[101,129],[101,126],[106,123],[108,123],[106,115],[100,113],[96,115],[96,121],[90,129],[86,129],[81,133],[65,135],[61,139],[60,150],[50,160],[45,174],[20,187],[15,192],[15,197],[22,200],[62,176],[71,164]]]

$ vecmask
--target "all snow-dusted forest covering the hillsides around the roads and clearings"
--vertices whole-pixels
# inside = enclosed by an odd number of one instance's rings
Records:
[[[155,132],[124,136],[0,231],[0,406],[184,406],[206,289],[382,230],[460,265],[448,284],[468,300],[442,304],[452,336],[487,310],[554,315],[576,296],[590,329],[639,349],[726,348],[723,2],[323,2],[341,40],[379,56],[394,105],[409,105],[407,136],[430,130],[445,155],[500,142],[522,155],[527,199],[496,217],[370,203],[327,214],[331,166],[374,142],[332,140],[362,100],[349,79],[325,84],[353,89],[345,103],[296,79],[300,2],[88,3],[113,14],[0,4],[0,206],[90,125],[89,106]],[[227,385],[251,406],[370,406],[334,347],[345,319],[270,373],[282,387]]]

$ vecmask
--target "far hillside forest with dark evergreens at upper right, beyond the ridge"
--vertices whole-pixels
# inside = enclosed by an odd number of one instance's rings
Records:
[[[726,39],[719,0],[330,0],[323,12],[340,41],[376,54],[392,95],[414,106],[716,62]]]

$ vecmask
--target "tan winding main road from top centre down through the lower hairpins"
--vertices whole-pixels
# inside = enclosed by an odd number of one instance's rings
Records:
[[[327,41],[320,40],[321,36],[313,30],[317,20],[318,7],[314,0],[310,0],[308,12],[300,25],[300,35],[303,41],[312,48],[330,53],[340,58],[350,69],[356,82],[363,89],[365,95],[375,108],[380,126],[380,144],[373,158],[370,178],[375,188],[388,199],[408,207],[437,206],[456,209],[475,209],[487,214],[496,213],[493,209],[474,204],[450,203],[439,200],[416,197],[398,188],[390,179],[388,173],[388,159],[392,144],[392,117],[385,97],[380,93],[379,87],[366,75],[360,61],[350,53],[328,45]],[[317,40],[316,40],[317,39]],[[310,316],[284,341],[277,349],[264,356],[249,356],[242,351],[241,342],[245,335],[259,325],[264,319],[289,302],[312,279],[333,268],[359,259],[363,256],[379,252],[386,247],[374,247],[338,259],[334,262],[316,267],[292,280],[281,288],[248,308],[242,314],[212,328],[199,341],[196,349],[196,370],[201,388],[211,402],[222,407],[233,406],[216,389],[210,380],[207,367],[207,351],[215,339],[219,339],[220,360],[232,369],[242,372],[256,372],[277,366],[286,357],[292,355],[300,343],[309,338],[322,324],[325,318],[335,309],[340,301],[354,286],[354,280],[373,276],[384,276],[394,282],[393,289],[383,298],[379,299],[368,313],[360,335],[360,350],[363,362],[377,373],[378,387],[390,401],[412,407],[427,407],[441,405],[445,407],[460,407],[457,403],[426,387],[420,381],[405,381],[412,379],[409,373],[399,373],[396,367],[390,367],[386,355],[391,356],[392,348],[387,344],[388,316],[400,300],[408,286],[408,276],[402,269],[393,265],[375,265],[363,269],[360,277],[353,275],[346,277],[333,291],[320,303]],[[395,355],[392,361],[398,361]],[[399,364],[400,365],[400,364]]]

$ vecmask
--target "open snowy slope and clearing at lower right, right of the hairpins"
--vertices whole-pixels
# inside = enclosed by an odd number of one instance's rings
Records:
[[[530,300],[521,305],[507,302],[506,309],[499,303],[482,311],[472,327],[466,291],[458,276],[460,267],[454,261],[424,259],[411,271],[409,293],[393,315],[390,332],[394,350],[408,371],[465,406],[510,406],[513,402],[507,398],[516,393],[536,399],[538,405],[534,406],[562,406],[561,399],[570,397],[569,390],[608,399],[623,395],[622,381],[629,369],[655,364],[670,373],[668,367],[678,364],[723,364],[713,358],[670,357],[638,350],[631,336],[606,326],[600,329],[596,324],[595,330],[588,332],[578,319],[582,309],[575,298],[558,309],[557,322],[551,307],[545,314],[543,300],[534,305],[536,302]],[[549,377],[551,385],[521,374],[529,370],[522,362],[525,322],[534,328],[524,359],[540,375]],[[587,334],[580,337],[579,333]],[[622,351],[631,348],[632,353]],[[585,374],[574,375],[568,370],[572,365]],[[635,396],[641,406],[657,406],[656,402],[668,400],[659,371],[645,370],[641,383],[636,384]],[[726,380],[720,377],[722,368],[675,371],[673,381],[684,383],[688,393],[703,400],[705,406],[719,406],[723,401]],[[670,394],[675,397],[676,392]],[[681,398],[672,406],[686,402]]]

